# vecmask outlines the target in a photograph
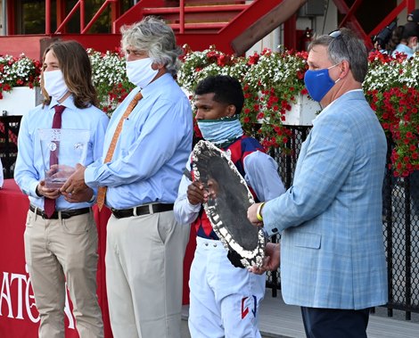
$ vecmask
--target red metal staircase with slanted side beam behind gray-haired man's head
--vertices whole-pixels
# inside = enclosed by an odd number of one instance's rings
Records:
[[[142,0],[114,22],[113,32],[146,15],[163,18],[175,30],[179,45],[193,50],[216,45],[230,54],[244,54],[251,45],[288,20],[307,0]],[[161,4],[163,5],[161,6]]]

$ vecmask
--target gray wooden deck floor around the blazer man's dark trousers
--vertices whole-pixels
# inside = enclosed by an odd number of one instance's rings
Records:
[[[184,306],[184,319],[187,319],[187,315],[188,307]],[[414,315],[416,318],[417,314]],[[270,290],[267,290],[265,300],[260,306],[259,328],[264,338],[306,337],[300,308],[284,304],[280,293],[273,298]],[[370,316],[367,333],[368,338],[418,338],[419,323],[373,314]]]

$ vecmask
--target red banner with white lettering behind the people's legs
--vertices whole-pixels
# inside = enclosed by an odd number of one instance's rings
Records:
[[[4,180],[0,190],[0,337],[37,337],[39,315],[25,265],[23,233],[29,209],[28,197],[21,194],[14,180]],[[99,262],[97,268],[97,295],[102,308],[105,338],[111,338],[104,254],[106,249],[106,224],[110,210],[94,208],[94,218],[98,229]],[[189,302],[189,268],[195,248],[194,233],[186,248],[184,263],[184,304]],[[66,338],[78,338],[75,319],[71,313],[70,298],[67,296],[65,308]]]

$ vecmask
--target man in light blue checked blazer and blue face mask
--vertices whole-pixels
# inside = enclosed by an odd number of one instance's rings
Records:
[[[366,337],[369,308],[387,302],[382,237],[386,139],[361,84],[366,47],[349,29],[309,46],[305,83],[323,111],[302,144],[291,188],[248,218],[281,233],[281,286],[310,338]],[[262,269],[277,268],[267,245]],[[258,270],[255,268],[255,272]]]

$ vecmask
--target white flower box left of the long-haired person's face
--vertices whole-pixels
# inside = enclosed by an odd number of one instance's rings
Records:
[[[0,100],[0,114],[25,115],[37,105],[37,87],[13,87],[12,92],[3,92]]]

